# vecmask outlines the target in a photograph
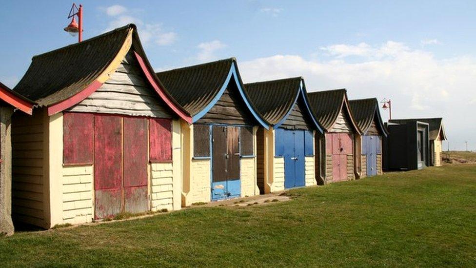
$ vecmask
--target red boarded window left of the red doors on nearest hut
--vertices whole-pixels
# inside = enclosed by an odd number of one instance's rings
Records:
[[[63,114],[63,164],[93,164],[93,114]]]

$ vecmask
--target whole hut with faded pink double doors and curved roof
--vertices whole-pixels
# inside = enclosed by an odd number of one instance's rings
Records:
[[[307,94],[311,110],[324,134],[316,137],[316,177],[320,183],[353,180],[360,176],[360,130],[354,121],[345,89]]]

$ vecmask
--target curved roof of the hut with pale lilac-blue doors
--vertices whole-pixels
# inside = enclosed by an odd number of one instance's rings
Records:
[[[384,136],[387,136],[387,130],[383,125],[380,111],[378,109],[378,101],[376,98],[360,99],[349,101],[352,115],[357,124],[357,127],[362,133],[367,132],[372,124],[374,118],[377,117],[377,125]]]

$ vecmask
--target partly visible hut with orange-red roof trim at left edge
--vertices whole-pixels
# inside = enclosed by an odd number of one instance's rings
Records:
[[[33,102],[0,82],[0,236],[10,235],[12,222],[12,115],[31,115]]]

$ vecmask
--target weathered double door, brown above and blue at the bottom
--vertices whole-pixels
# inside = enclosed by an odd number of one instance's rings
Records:
[[[238,126],[212,126],[212,200],[241,196]]]

